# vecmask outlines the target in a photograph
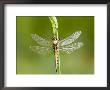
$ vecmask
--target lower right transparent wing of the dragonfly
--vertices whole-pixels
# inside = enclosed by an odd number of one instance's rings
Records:
[[[73,51],[81,48],[83,46],[82,42],[77,42],[74,44],[70,44],[67,46],[62,46],[59,48],[60,51],[66,52],[67,54],[71,54]]]

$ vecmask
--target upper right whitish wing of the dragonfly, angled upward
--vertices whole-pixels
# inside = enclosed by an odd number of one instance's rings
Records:
[[[71,44],[71,43],[74,42],[80,35],[81,35],[81,31],[76,31],[75,33],[73,33],[73,34],[70,35],[69,37],[65,38],[64,40],[61,40],[60,43],[59,43],[59,45],[60,45],[60,46],[64,46],[64,45]]]

